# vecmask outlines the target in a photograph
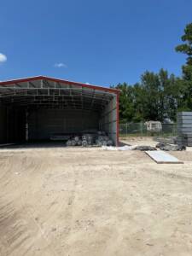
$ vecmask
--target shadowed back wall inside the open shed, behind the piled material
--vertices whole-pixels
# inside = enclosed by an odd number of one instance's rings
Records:
[[[39,109],[29,111],[29,140],[49,139],[54,133],[73,133],[99,129],[94,111]]]

